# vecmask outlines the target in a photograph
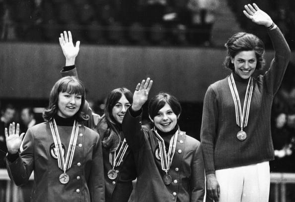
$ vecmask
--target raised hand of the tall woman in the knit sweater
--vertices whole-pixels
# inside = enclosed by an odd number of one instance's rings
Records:
[[[269,27],[273,24],[272,18],[266,12],[259,9],[255,3],[253,3],[253,6],[251,4],[247,4],[244,6],[244,8],[244,14],[247,18],[251,19],[252,22],[258,25],[264,25],[266,27]]]

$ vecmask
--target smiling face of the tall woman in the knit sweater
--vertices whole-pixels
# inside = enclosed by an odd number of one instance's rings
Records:
[[[257,58],[254,50],[240,51],[231,58],[234,72],[242,79],[248,79],[255,71]]]

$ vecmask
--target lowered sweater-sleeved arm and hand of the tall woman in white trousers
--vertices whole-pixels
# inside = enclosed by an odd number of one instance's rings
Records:
[[[201,145],[203,150],[205,171],[206,171],[206,188],[209,198],[218,202],[220,188],[215,177],[214,166],[214,147],[218,121],[217,98],[210,86],[206,92],[203,106],[203,117],[201,126]]]

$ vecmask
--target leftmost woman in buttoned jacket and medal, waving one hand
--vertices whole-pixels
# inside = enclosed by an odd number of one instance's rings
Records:
[[[29,128],[23,141],[19,124],[5,128],[9,177],[20,186],[34,170],[31,202],[105,201],[101,141],[83,125],[84,102],[81,82],[64,77],[51,90],[46,122]]]

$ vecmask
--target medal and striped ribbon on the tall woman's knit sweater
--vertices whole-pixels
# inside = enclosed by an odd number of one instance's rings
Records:
[[[236,138],[240,141],[243,141],[247,138],[247,134],[245,131],[243,131],[243,128],[245,128],[248,124],[251,98],[253,93],[253,78],[250,77],[248,82],[243,111],[232,73],[228,77],[228,85],[234,102],[236,124],[241,128],[241,130],[237,132]]]

